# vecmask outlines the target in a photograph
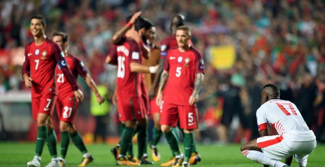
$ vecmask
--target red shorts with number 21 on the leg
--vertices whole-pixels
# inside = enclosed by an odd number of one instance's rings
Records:
[[[74,97],[73,92],[59,96],[57,101],[57,114],[60,121],[74,124],[74,116],[77,112],[79,102]]]

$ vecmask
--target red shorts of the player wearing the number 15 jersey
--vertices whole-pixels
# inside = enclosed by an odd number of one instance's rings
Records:
[[[121,122],[145,118],[138,97],[118,97],[117,109]]]

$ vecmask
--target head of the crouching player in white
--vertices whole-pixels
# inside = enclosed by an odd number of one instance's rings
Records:
[[[269,83],[263,87],[260,104],[262,105],[271,99],[280,99],[280,89],[276,84]]]

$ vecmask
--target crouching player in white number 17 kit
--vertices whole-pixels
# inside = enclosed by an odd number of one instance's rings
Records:
[[[306,167],[307,158],[316,147],[316,137],[309,130],[297,107],[290,101],[280,100],[275,84],[266,84],[261,91],[260,108],[256,112],[260,138],[243,144],[242,154],[255,162],[272,167],[290,167],[292,155],[300,167]],[[278,135],[268,136],[267,124]],[[281,159],[286,158],[286,163]]]

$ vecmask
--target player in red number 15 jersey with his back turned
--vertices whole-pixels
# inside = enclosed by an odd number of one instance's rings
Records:
[[[118,165],[137,166],[145,162],[142,157],[143,149],[141,148],[144,147],[146,141],[145,116],[147,112],[147,104],[145,104],[145,99],[143,99],[146,93],[141,88],[141,85],[143,85],[143,75],[140,73],[155,73],[157,67],[141,65],[141,47],[137,42],[138,39],[141,40],[141,35],[145,29],[152,27],[152,23],[134,14],[125,27],[129,27],[125,32],[126,37],[120,38],[117,45],[111,48],[109,56],[106,57],[106,63],[118,66],[116,80],[117,98],[119,99],[117,101],[118,112],[120,121],[125,123],[120,141],[121,149],[116,162]],[[113,36],[114,39],[116,38]],[[140,127],[138,132],[138,157],[140,157],[140,163],[128,161],[126,157],[136,126]]]

